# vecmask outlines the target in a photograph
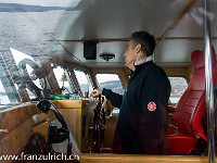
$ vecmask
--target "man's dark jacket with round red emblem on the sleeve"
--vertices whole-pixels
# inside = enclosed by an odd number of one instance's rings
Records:
[[[102,93],[119,108],[114,153],[166,153],[170,83],[163,68],[152,61],[137,65],[124,96]]]

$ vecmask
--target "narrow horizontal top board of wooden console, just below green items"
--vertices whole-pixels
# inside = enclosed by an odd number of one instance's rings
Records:
[[[60,109],[60,108],[81,108],[81,100],[56,100],[53,101],[53,104]]]

